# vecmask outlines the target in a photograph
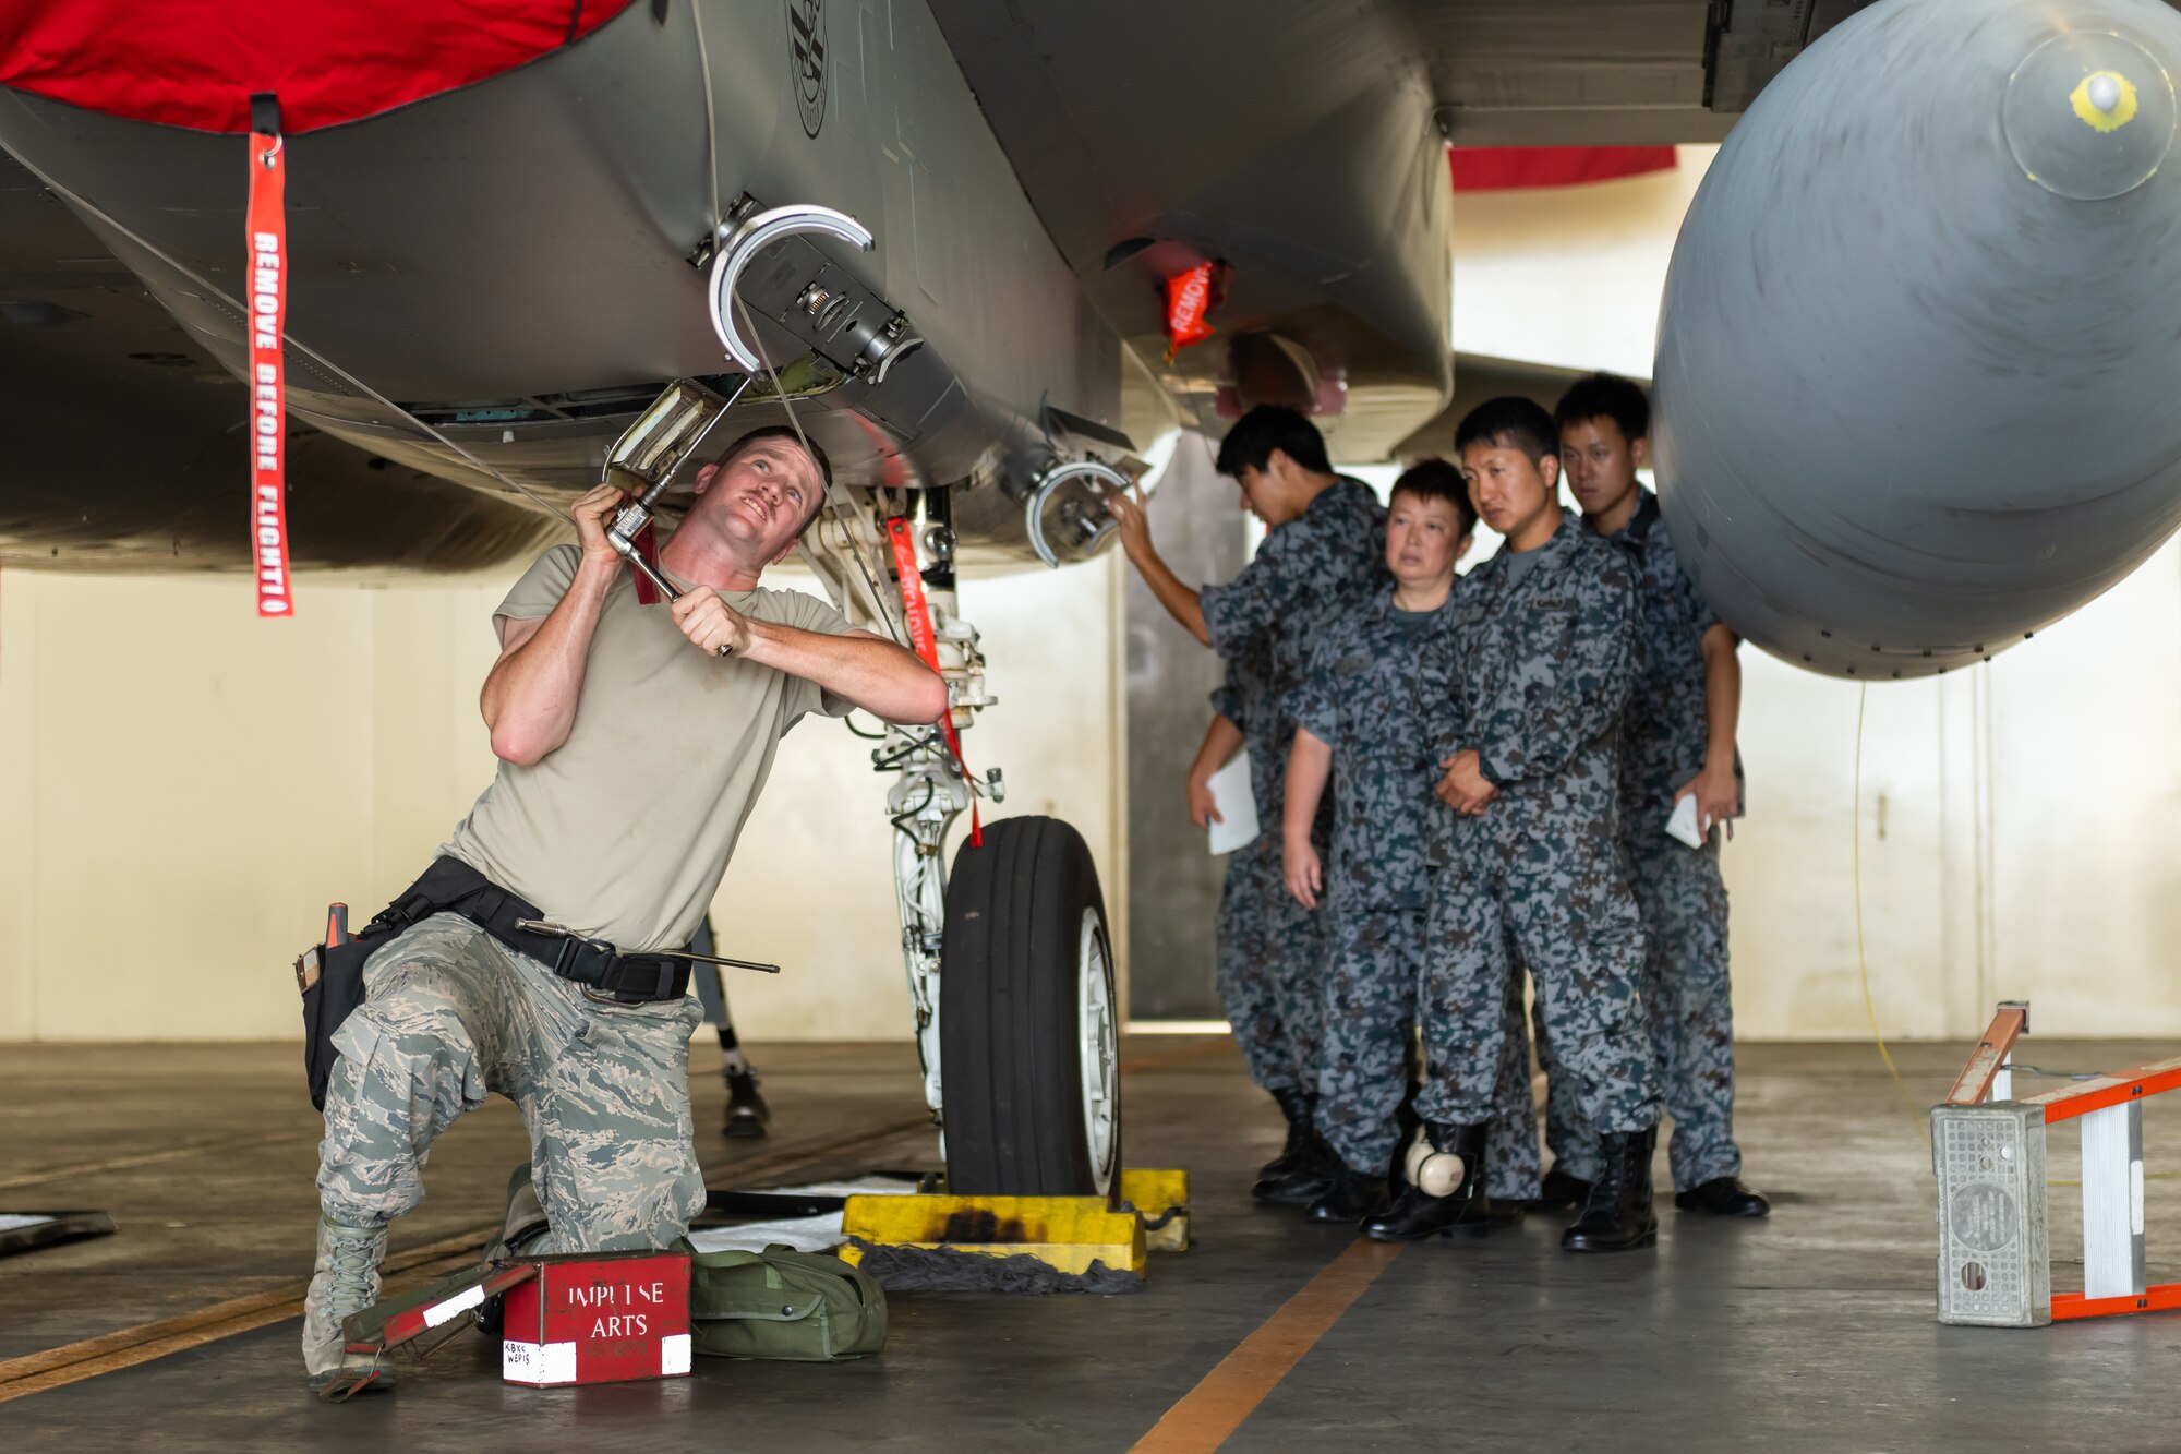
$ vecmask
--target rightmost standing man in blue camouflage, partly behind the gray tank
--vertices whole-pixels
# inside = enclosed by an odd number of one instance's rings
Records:
[[[1740,1183],[1734,1144],[1734,1006],[1727,985],[1727,886],[1719,841],[1743,812],[1734,751],[1743,670],[1736,637],[1682,570],[1658,496],[1636,472],[1649,456],[1651,406],[1642,386],[1612,373],[1577,380],[1555,410],[1568,489],[1586,524],[1636,561],[1642,666],[1620,718],[1620,847],[1649,939],[1644,1002],[1660,1089],[1673,1116],[1673,1205],[1714,1216],[1764,1216],[1771,1205]],[[1701,849],[1666,834],[1695,799]],[[1555,1170],[1590,1161],[1575,1107],[1555,1107]],[[1575,1122],[1570,1129],[1566,1122]],[[1566,1148],[1564,1148],[1566,1146]]]

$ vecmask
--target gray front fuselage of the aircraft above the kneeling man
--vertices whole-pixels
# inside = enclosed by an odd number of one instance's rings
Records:
[[[1016,500],[1040,463],[1038,404],[1117,415],[1119,341],[1045,236],[929,13],[827,7],[827,35],[816,135],[805,133],[787,7],[707,4],[707,148],[694,11],[674,4],[663,22],[630,7],[521,70],[290,138],[292,417],[508,498],[342,373],[432,406],[643,395],[718,373],[702,273],[687,262],[707,234],[715,162],[722,203],[750,192],[859,216],[877,249],[853,262],[835,251],[835,262],[927,338],[888,397],[851,382],[803,410],[838,474],[957,487],[964,535],[1027,555]],[[81,203],[81,221],[198,356],[240,371],[238,317],[222,299],[242,236],[238,138],[4,92],[0,144]],[[794,356],[768,336],[776,356]],[[912,395],[925,402],[914,415],[888,410]],[[598,480],[635,408],[445,432],[569,500]],[[779,419],[779,404],[748,402],[724,428]]]

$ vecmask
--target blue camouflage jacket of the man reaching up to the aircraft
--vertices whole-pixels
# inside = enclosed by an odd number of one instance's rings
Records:
[[[1197,600],[1226,683],[1213,707],[1250,744],[1258,832],[1280,836],[1280,792],[1296,723],[1287,694],[1302,681],[1311,644],[1357,596],[1387,581],[1385,506],[1370,485],[1337,478],[1296,520],[1267,531],[1256,557]]]

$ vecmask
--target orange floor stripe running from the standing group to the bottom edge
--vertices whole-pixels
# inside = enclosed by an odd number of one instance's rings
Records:
[[[1130,1454],[1213,1454],[1265,1402],[1289,1369],[1302,1362],[1341,1314],[1378,1282],[1402,1242],[1357,1238],[1254,1334],[1219,1360],[1219,1367],[1182,1395],[1182,1402],[1138,1439]]]

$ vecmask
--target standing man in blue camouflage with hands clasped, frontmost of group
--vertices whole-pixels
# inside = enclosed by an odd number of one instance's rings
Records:
[[[1559,509],[1557,448],[1553,417],[1531,400],[1492,400],[1455,432],[1470,500],[1505,546],[1461,581],[1446,635],[1455,696],[1437,734],[1446,810],[1431,834],[1424,1127],[1405,1161],[1411,1185],[1363,1223],[1378,1240],[1490,1227],[1487,1137],[1520,965],[1601,1131],[1599,1179],[1562,1247],[1623,1251],[1658,1238],[1642,919],[1616,817],[1636,581],[1623,550]]]

